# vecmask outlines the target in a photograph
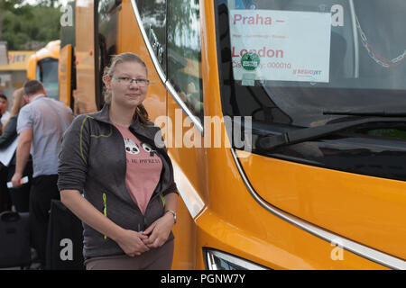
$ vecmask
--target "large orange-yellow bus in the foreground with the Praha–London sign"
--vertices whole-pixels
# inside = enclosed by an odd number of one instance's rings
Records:
[[[149,67],[173,269],[406,269],[403,1],[73,5],[76,112],[103,105],[111,55]]]

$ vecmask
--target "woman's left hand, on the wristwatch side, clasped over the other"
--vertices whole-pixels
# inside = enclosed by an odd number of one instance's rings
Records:
[[[143,243],[150,248],[161,247],[168,239],[173,224],[172,214],[165,213],[160,219],[154,221],[150,227],[143,231],[143,235],[149,235],[147,239],[143,240]]]

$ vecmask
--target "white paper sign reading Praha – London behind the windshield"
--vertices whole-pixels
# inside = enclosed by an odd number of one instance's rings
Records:
[[[231,10],[235,80],[328,82],[331,14]]]

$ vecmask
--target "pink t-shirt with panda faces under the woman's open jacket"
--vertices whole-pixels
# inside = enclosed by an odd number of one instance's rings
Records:
[[[153,191],[160,181],[162,162],[156,151],[137,139],[125,126],[115,124],[125,140],[127,171],[125,185],[131,198],[145,213]]]

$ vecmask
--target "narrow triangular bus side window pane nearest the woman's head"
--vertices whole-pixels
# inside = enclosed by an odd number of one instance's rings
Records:
[[[166,74],[166,0],[136,0],[153,52]]]

